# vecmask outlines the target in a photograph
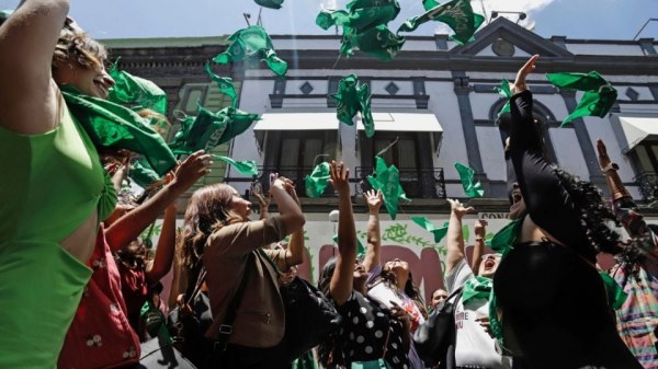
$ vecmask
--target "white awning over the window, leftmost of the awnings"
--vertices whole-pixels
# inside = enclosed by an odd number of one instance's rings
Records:
[[[253,126],[259,146],[263,147],[268,130],[337,130],[336,112],[265,113]]]

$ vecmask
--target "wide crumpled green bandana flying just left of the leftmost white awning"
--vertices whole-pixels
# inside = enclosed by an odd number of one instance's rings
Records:
[[[169,142],[169,147],[177,154],[209,151],[242,134],[258,119],[258,114],[249,114],[232,106],[213,113],[198,105],[198,115],[186,116],[181,122],[181,129]]]

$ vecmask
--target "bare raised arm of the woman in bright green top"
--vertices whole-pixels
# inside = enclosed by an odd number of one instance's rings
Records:
[[[23,0],[0,26],[0,126],[24,135],[59,124],[50,68],[68,0]]]

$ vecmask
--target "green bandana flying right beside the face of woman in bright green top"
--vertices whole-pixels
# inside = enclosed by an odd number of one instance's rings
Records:
[[[167,115],[167,93],[156,83],[118,70],[118,60],[110,68],[110,77],[115,84],[109,91],[109,101],[131,105],[134,109],[150,108]]]

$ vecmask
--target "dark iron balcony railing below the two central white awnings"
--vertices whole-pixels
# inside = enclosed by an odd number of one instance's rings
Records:
[[[295,189],[299,197],[307,197],[304,188],[304,178],[310,172],[313,168],[306,166],[259,166],[259,173],[253,178],[248,177],[226,177],[226,183],[238,183],[238,182],[252,182],[257,185],[262,186],[263,192],[269,189],[270,183],[268,173],[279,173],[288,177],[295,182]],[[361,195],[363,192],[371,189],[372,187],[367,183],[366,176],[373,174],[373,169],[367,166],[356,166],[352,172],[350,182],[353,183],[352,193]],[[445,181],[443,178],[443,169],[401,169],[400,170],[400,184],[407,197],[409,198],[445,198]],[[336,194],[331,186],[328,186],[321,197],[334,197]]]

